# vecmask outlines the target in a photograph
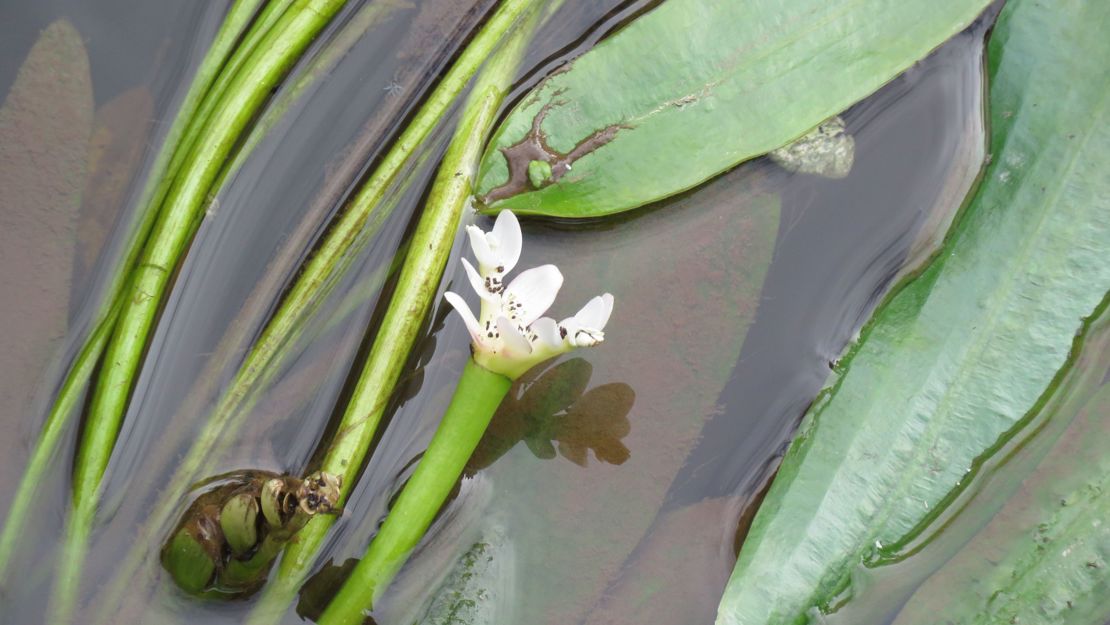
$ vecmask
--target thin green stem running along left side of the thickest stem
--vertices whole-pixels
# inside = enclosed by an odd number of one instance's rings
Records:
[[[20,480],[16,495],[12,497],[3,533],[0,534],[0,585],[3,584],[3,579],[7,576],[8,564],[11,560],[16,541],[23,533],[37,485],[44,477],[51,460],[58,451],[61,437],[70,423],[70,419],[75,413],[74,407],[80,402],[85,390],[85,384],[91,377],[97,363],[100,361],[104,345],[108,344],[108,337],[115,326],[121,305],[119,300],[123,292],[123,286],[127,284],[127,278],[135,260],[139,258],[142,245],[158,215],[161,199],[158,201],[152,201],[152,199],[155,198],[159,182],[168,178],[167,171],[170,161],[178,150],[179,142],[184,134],[189,120],[196,112],[203,98],[210,92],[212,81],[215,80],[235,43],[251,23],[261,2],[262,0],[236,0],[234,6],[232,6],[219,32],[216,32],[212,46],[201,61],[196,70],[196,75],[193,77],[193,81],[178,110],[173,124],[170,127],[162,147],[154,158],[154,164],[147,177],[147,184],[138,202],[138,205],[141,206],[138,211],[138,221],[132,226],[131,234],[128,236],[124,245],[122,259],[119,262],[120,270],[114,272],[114,276],[109,282],[100,310],[97,312],[95,317],[93,317],[91,324],[92,332],[85,339],[84,345],[70,365],[54,400],[54,404],[51,406],[47,421],[43,424],[42,433],[39,435],[34,450],[31,452],[31,458]]]

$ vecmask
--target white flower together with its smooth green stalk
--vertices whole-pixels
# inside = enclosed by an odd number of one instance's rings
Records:
[[[521,258],[521,226],[512,212],[502,211],[492,232],[473,225],[466,230],[478,266],[465,259],[463,265],[482,299],[481,316],[474,316],[458,294],[447,292],[446,299],[466,324],[473,357],[463,369],[447,412],[416,471],[366,555],[329,604],[321,625],[363,622],[364,612],[381,596],[446,502],[513,381],[548,359],[605,339],[613,295],[598,295],[574,316],[556,323],[541,316],[563,284],[555,265],[521,272],[504,285],[505,275]]]

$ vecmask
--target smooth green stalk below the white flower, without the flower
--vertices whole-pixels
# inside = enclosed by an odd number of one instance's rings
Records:
[[[364,613],[389,586],[447,501],[512,383],[508,377],[483,369],[473,360],[466,361],[455,395],[432,443],[401,491],[382,530],[371,542],[365,557],[327,605],[320,625],[360,625],[363,622]]]

